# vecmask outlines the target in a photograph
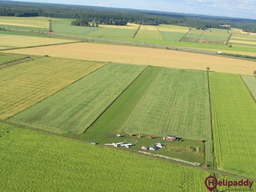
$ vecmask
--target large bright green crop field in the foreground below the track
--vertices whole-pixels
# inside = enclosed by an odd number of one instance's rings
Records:
[[[0,151],[1,191],[207,191],[207,171],[5,124]]]

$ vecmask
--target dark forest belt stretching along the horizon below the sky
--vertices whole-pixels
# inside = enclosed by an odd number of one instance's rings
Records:
[[[0,1],[0,16],[45,16],[71,18],[73,25],[90,26],[85,23],[94,22],[96,25],[127,25],[128,22],[144,25],[172,24],[197,29],[230,27],[240,28],[245,32],[256,32],[256,21],[239,18],[221,18],[212,16],[192,16],[160,11],[140,11],[132,9],[117,9],[106,7],[61,5],[46,3],[29,3],[17,1]],[[71,23],[70,23],[71,24]],[[230,26],[230,27],[229,27]]]

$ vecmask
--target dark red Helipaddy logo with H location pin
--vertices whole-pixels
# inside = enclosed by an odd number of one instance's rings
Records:
[[[204,183],[210,192],[212,192],[217,186],[227,186],[228,188],[231,186],[248,186],[251,188],[253,185],[253,181],[249,181],[249,179],[241,179],[240,181],[228,181],[227,179],[223,179],[218,181],[215,176],[208,176]]]

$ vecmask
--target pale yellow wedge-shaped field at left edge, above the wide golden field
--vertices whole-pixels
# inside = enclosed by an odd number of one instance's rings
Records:
[[[70,43],[76,42],[73,40],[65,39],[54,39],[54,38],[44,38],[44,37],[30,37],[30,36],[19,36],[19,35],[5,35],[0,34],[0,47],[6,48],[20,48],[20,47],[31,47],[40,45],[51,45],[59,43]]]

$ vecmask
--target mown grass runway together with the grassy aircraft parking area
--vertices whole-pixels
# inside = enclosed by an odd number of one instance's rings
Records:
[[[207,142],[206,146],[210,147],[210,153],[204,157],[205,145],[201,144],[199,140],[170,142],[164,141],[162,138],[148,139],[147,137],[143,137],[137,139],[135,136],[130,136],[126,133],[123,133],[125,136],[122,138],[116,137],[115,133],[120,131],[123,123],[126,122],[127,118],[133,112],[134,107],[138,105],[142,96],[144,96],[144,94],[147,92],[161,70],[161,67],[149,66],[146,68],[141,73],[141,75],[139,75],[139,77],[128,87],[128,89],[125,90],[103,114],[101,114],[97,121],[94,122],[84,134],[80,135],[80,139],[96,141],[100,143],[123,142],[126,139],[128,139],[128,142],[138,140],[134,146],[132,146],[130,149],[127,149],[128,151],[132,150],[134,152],[140,150],[141,146],[152,146],[156,141],[158,141],[158,139],[160,139],[162,144],[164,144],[164,148],[157,151],[150,151],[151,153],[200,163],[205,162],[204,158],[206,158],[207,162],[212,165],[212,149],[210,145],[207,145]],[[194,148],[192,148],[192,146]],[[197,149],[197,151],[194,149]],[[206,150],[206,153],[208,153],[208,148]],[[177,153],[177,151],[179,152]]]

